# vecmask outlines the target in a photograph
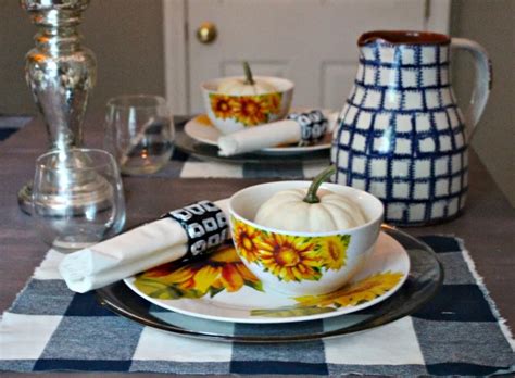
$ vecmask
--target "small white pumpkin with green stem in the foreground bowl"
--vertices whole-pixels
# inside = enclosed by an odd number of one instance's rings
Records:
[[[318,187],[332,176],[331,165],[313,179],[310,188],[275,193],[259,209],[254,222],[285,231],[325,232],[364,225],[367,219],[351,199]]]

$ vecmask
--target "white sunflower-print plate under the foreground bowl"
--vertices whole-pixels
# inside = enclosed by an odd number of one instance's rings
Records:
[[[125,279],[155,305],[222,322],[289,323],[353,313],[393,294],[407,278],[403,247],[381,232],[363,269],[347,285],[323,295],[286,297],[266,288],[240,261],[231,244],[208,259],[169,263]]]

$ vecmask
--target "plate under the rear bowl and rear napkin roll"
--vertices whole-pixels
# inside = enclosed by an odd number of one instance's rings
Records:
[[[218,146],[218,138],[222,135],[216,127],[213,126],[210,118],[205,114],[200,114],[194,118],[188,121],[185,125],[185,133],[192,139],[210,144]],[[331,147],[332,136],[326,134],[324,138],[314,146],[281,146],[281,147],[271,147],[260,151],[258,153],[264,154],[300,154],[309,153],[318,150],[327,150]]]

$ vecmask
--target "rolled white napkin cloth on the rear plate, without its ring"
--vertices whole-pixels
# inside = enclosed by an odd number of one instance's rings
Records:
[[[338,113],[323,113],[329,123],[327,134],[332,133]],[[284,119],[219,137],[218,154],[222,156],[230,156],[238,153],[276,147],[278,144],[297,143],[300,140],[301,128],[299,124],[293,119]]]

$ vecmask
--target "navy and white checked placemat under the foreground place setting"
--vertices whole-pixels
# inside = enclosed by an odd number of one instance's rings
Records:
[[[0,371],[466,375],[515,371],[515,342],[462,241],[422,238],[444,282],[412,316],[341,338],[286,344],[222,343],[145,327],[67,290],[51,250],[0,323]],[[234,331],[249,325],[234,324]],[[314,322],[324,327],[324,320]],[[244,330],[243,330],[244,331]]]

